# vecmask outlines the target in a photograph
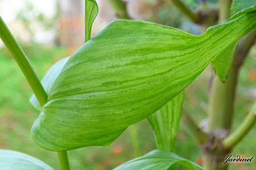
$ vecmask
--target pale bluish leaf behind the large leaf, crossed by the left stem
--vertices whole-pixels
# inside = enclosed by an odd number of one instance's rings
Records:
[[[52,65],[47,71],[46,75],[44,75],[44,78],[41,80],[41,83],[47,94],[49,94],[49,92],[51,91],[53,83],[55,82],[56,78],[59,76],[60,71],[63,69],[65,63],[68,61],[68,58],[69,57],[65,57],[60,61],[56,62],[54,65]],[[42,107],[39,104],[38,99],[36,99],[35,95],[31,96],[30,103],[39,111],[42,110]]]

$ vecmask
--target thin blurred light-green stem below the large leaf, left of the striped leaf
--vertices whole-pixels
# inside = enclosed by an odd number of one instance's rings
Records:
[[[133,145],[135,158],[141,156],[141,150],[139,149],[138,133],[135,125],[129,126],[129,133],[131,136],[131,144]]]

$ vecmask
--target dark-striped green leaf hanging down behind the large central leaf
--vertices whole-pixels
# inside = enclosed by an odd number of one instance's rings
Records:
[[[148,117],[148,121],[154,129],[156,146],[159,150],[174,152],[183,98],[184,91]]]

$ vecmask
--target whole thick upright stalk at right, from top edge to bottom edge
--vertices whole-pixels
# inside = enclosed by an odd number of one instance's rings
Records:
[[[232,0],[219,1],[219,23],[230,18],[231,3]],[[224,134],[225,131],[229,131],[231,128],[237,76],[238,70],[232,63],[228,71],[228,79],[225,84],[223,84],[217,76],[213,80],[212,91],[209,99],[208,126],[209,132],[213,135],[218,133]],[[222,138],[225,137],[217,139],[217,145],[219,145],[218,141],[221,141]],[[227,152],[229,151],[221,150],[221,147],[216,147],[214,150],[204,150],[204,168],[207,170],[228,169],[228,165],[220,166],[220,164],[224,162]]]

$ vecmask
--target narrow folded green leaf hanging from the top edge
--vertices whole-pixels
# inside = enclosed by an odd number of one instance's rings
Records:
[[[98,5],[96,0],[85,0],[85,42],[90,40],[92,24],[98,15]]]

